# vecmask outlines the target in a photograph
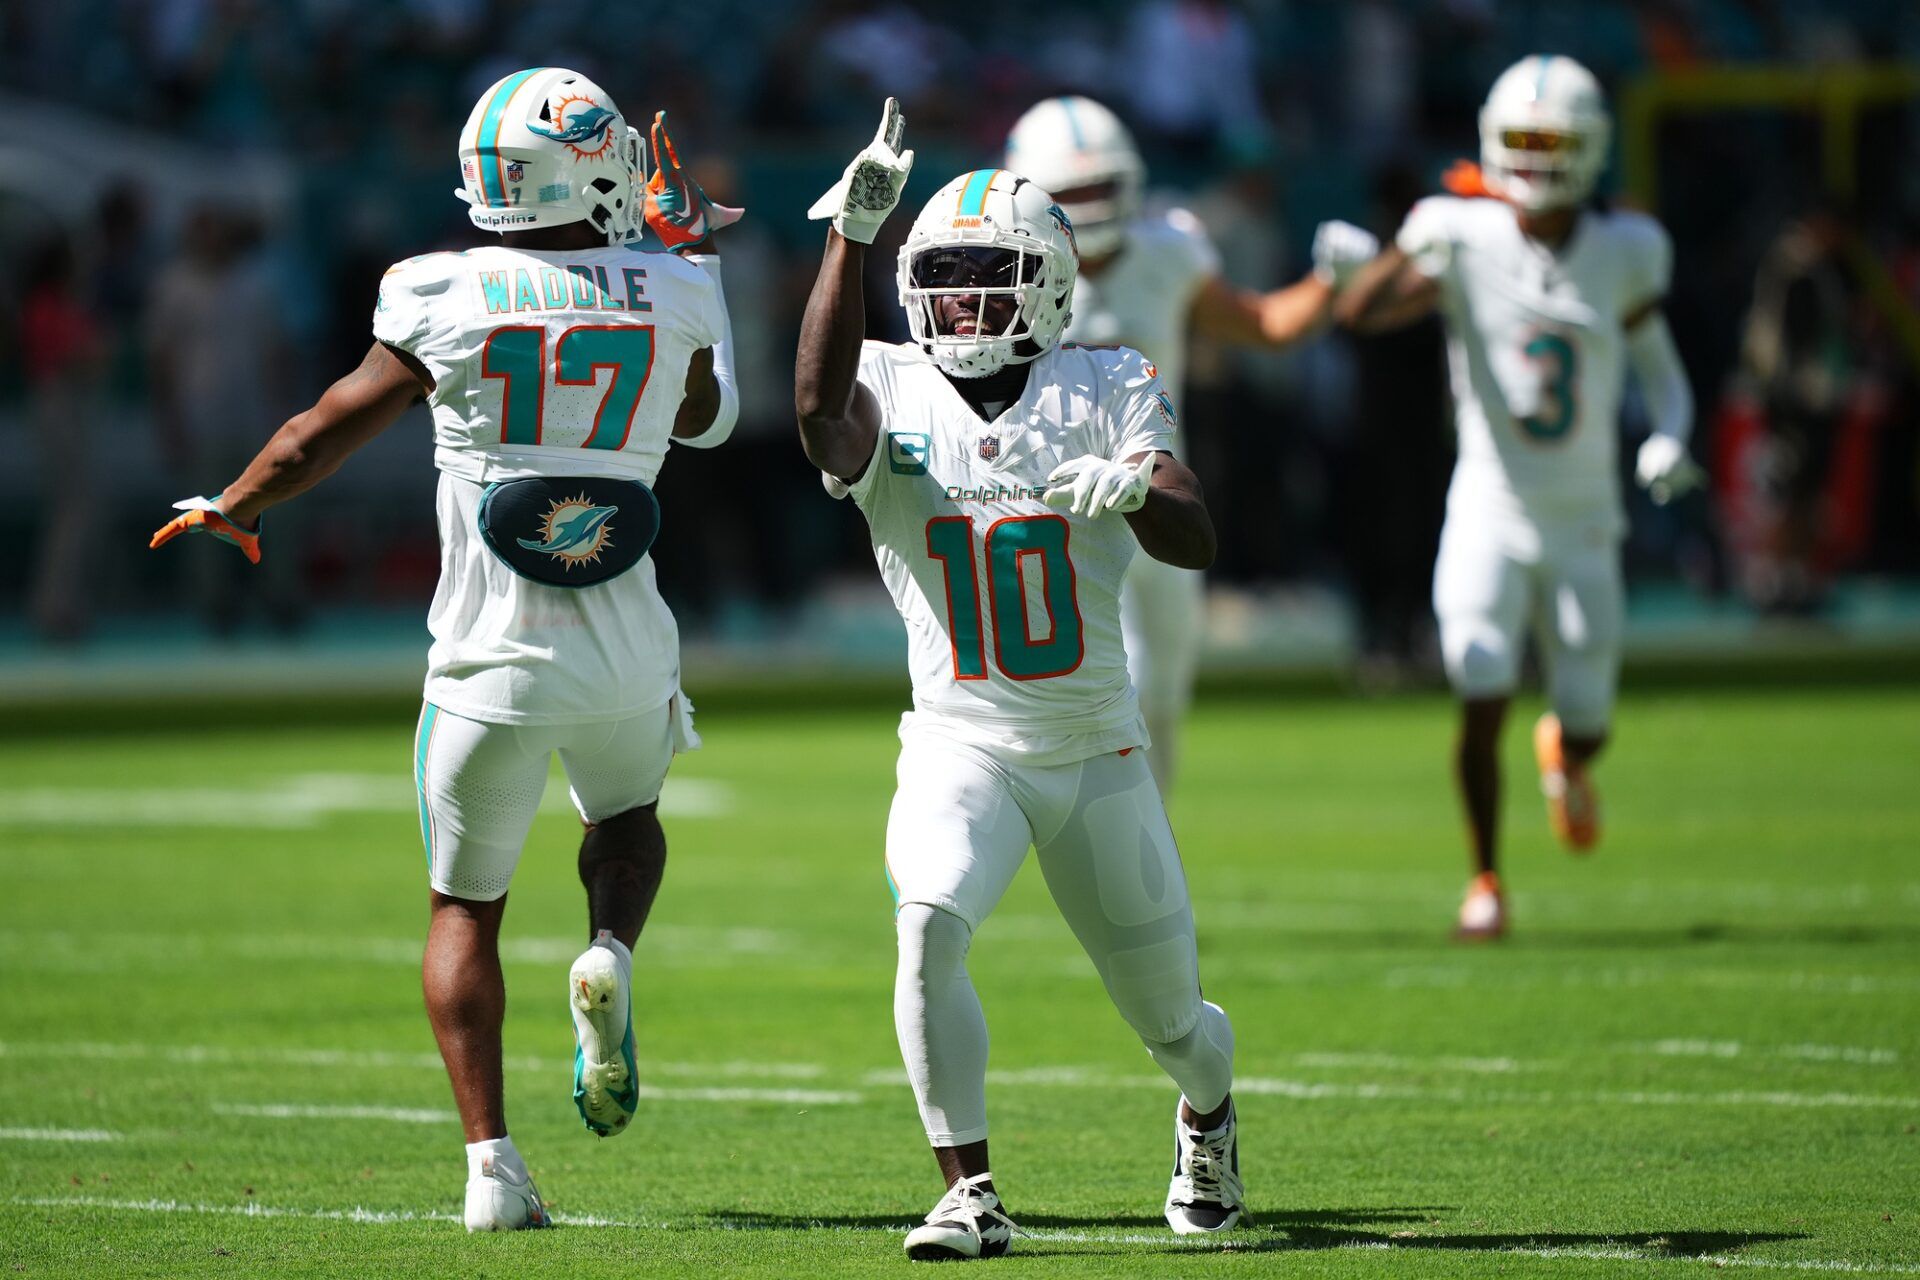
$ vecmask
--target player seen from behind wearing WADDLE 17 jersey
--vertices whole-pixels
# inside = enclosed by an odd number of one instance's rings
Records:
[[[639,132],[563,67],[488,88],[459,163],[455,194],[501,242],[392,267],[361,367],[217,497],[177,503],[186,514],[154,545],[213,533],[259,562],[261,512],[430,405],[442,553],[413,748],[422,984],[467,1130],[467,1230],[513,1230],[549,1219],[507,1136],[497,940],[553,752],[586,823],[572,1098],[601,1136],[637,1103],[630,948],[666,862],[660,781],[699,745],[647,558],[651,484],[670,443],[710,447],[733,428],[720,265],[695,249],[739,211],[684,177],[664,113],[647,177]]]

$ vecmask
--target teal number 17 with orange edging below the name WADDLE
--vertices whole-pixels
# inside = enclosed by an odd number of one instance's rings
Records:
[[[553,384],[593,386],[611,368],[607,393],[593,413],[593,430],[582,449],[622,449],[634,430],[634,413],[653,378],[651,324],[576,324],[553,344]],[[499,443],[543,443],[547,415],[547,330],[540,324],[505,324],[480,347],[480,376],[497,378]]]

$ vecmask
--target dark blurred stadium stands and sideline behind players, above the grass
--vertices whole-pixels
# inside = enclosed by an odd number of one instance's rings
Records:
[[[689,687],[866,672],[904,689],[858,514],[793,438],[804,209],[899,94],[920,165],[998,154],[1033,100],[1114,104],[1150,188],[1242,286],[1315,221],[1388,234],[1475,150],[1530,50],[1607,83],[1607,188],[1674,232],[1670,317],[1711,491],[1626,486],[1630,664],[1828,662],[1920,645],[1920,10],[1903,0],[1146,0],[666,10],[624,0],[0,4],[0,699],[292,681],[407,693],[436,574],[424,411],[275,512],[259,572],[146,553],[351,368],[386,263],[478,232],[451,190],[476,92],[564,63],[668,107],[726,244],[743,422],[660,482]],[[904,221],[904,219],[897,219]],[[897,230],[899,234],[899,230]],[[900,328],[891,276],[872,322]],[[1200,349],[1185,418],[1221,524],[1210,668],[1434,683],[1450,466],[1438,326],[1271,357]],[[1642,428],[1630,407],[1622,459]],[[217,643],[207,643],[209,639]],[[292,674],[292,676],[290,676]]]

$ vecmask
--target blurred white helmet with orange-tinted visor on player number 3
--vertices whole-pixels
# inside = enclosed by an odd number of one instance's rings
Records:
[[[1572,58],[1523,58],[1494,81],[1480,107],[1480,171],[1528,213],[1571,209],[1592,196],[1611,140],[1599,81]]]

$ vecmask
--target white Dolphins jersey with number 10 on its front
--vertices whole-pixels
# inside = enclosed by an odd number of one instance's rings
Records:
[[[902,731],[1023,764],[1146,747],[1119,633],[1133,528],[1043,499],[1060,462],[1171,451],[1154,367],[1062,344],[993,422],[912,344],[868,342],[858,376],[881,430],[852,497],[906,622],[914,712]]]

